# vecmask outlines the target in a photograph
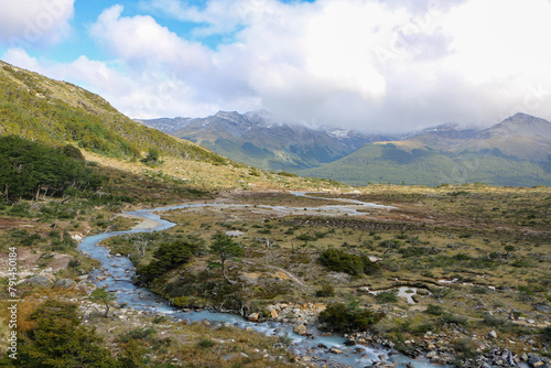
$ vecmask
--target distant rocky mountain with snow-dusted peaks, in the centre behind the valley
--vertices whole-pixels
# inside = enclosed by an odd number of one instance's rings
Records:
[[[344,158],[367,142],[389,139],[338,128],[277,122],[264,111],[218,111],[206,118],[137,121],[235,161],[272,171],[318,166]]]

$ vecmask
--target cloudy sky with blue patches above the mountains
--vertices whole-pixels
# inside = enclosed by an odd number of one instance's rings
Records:
[[[551,120],[551,0],[0,0],[0,58],[131,118]]]

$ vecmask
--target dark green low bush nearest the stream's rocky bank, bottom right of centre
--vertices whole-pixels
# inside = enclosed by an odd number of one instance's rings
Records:
[[[352,332],[367,329],[382,317],[383,314],[376,314],[372,311],[355,311],[343,303],[332,303],[320,313],[318,320],[327,324],[331,329]]]

